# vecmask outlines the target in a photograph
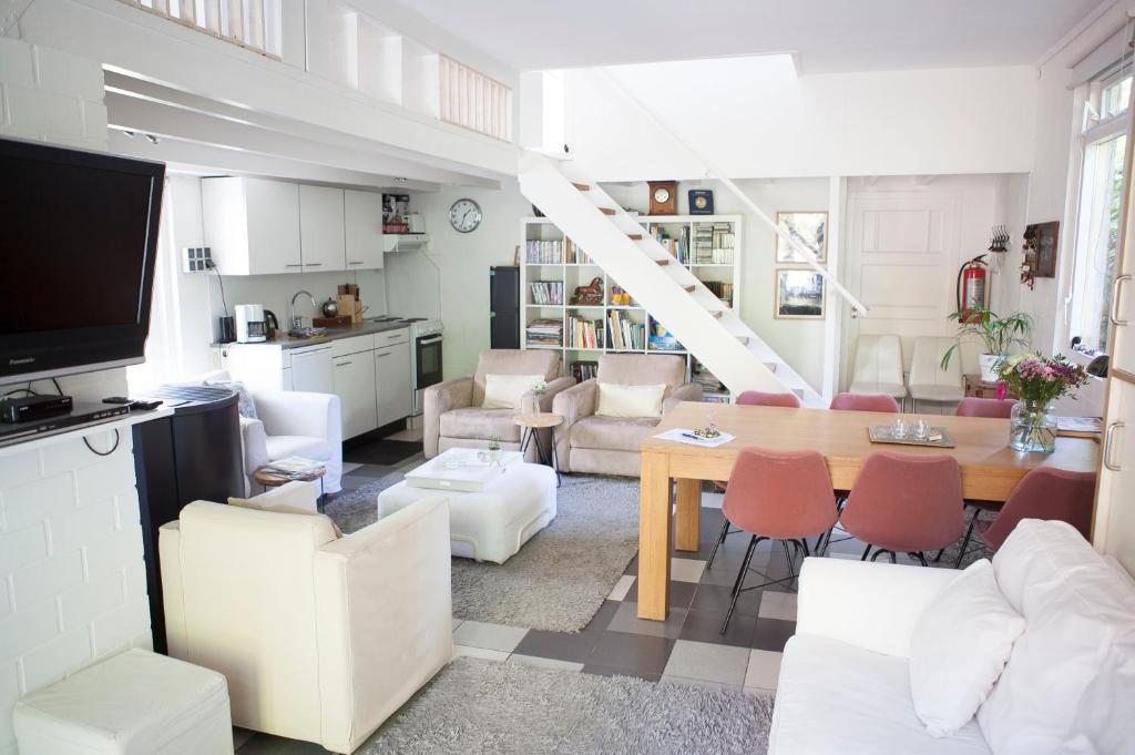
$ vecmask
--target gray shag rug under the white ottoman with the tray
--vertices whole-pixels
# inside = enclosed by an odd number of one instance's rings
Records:
[[[339,494],[326,513],[344,532],[377,519],[393,472]],[[563,478],[556,518],[503,564],[453,559],[453,615],[510,627],[577,632],[638,553],[638,480]]]

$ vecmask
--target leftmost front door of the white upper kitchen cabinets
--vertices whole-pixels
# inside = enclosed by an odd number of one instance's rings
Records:
[[[283,181],[242,181],[249,275],[300,272],[300,187]]]

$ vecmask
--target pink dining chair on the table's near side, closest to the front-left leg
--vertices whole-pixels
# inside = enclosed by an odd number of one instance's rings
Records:
[[[733,601],[721,627],[724,635],[741,593],[794,580],[796,552],[812,555],[807,538],[825,532],[835,523],[836,513],[832,479],[819,452],[751,447],[742,448],[737,455],[722,509],[726,521],[753,536],[733,582]],[[781,542],[788,559],[789,577],[768,579],[765,576],[767,581],[745,587],[753,552],[762,540]],[[789,553],[789,543],[792,544],[792,553]]]

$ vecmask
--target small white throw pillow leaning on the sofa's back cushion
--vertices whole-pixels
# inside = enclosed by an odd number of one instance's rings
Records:
[[[986,559],[931,603],[910,636],[915,712],[933,737],[966,725],[1001,676],[1025,620],[997,587]]]

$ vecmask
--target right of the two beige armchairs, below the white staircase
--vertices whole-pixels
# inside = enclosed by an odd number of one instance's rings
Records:
[[[686,360],[674,354],[604,354],[599,376],[557,395],[552,411],[564,423],[556,430],[556,455],[564,472],[639,476],[639,443],[654,433],[658,417],[615,418],[595,412],[599,383],[664,383],[662,413],[683,401],[701,401],[701,386],[686,383]]]

